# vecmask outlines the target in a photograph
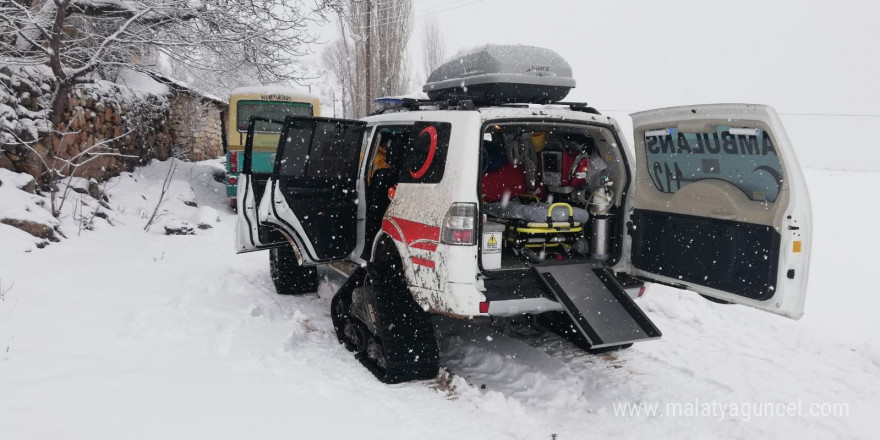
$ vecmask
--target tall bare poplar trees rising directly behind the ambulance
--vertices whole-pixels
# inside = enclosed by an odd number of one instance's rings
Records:
[[[343,89],[345,113],[364,116],[373,99],[406,92],[412,0],[341,0],[334,8],[341,36],[324,65]]]

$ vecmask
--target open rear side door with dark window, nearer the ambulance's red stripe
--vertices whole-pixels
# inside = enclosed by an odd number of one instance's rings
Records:
[[[260,220],[294,244],[300,264],[344,260],[357,247],[358,165],[366,123],[288,116]]]

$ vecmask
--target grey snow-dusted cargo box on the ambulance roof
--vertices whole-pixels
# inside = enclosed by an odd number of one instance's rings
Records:
[[[423,90],[432,100],[545,104],[563,100],[574,86],[571,66],[550,49],[486,45],[438,67]]]

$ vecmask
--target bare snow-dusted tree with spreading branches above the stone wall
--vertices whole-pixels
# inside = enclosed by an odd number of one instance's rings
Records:
[[[282,0],[0,1],[0,65],[45,66],[54,86],[43,135],[63,140],[75,134],[67,109],[77,85],[120,67],[150,71],[155,66],[142,61],[151,57],[218,85],[301,78],[293,61],[314,42],[309,20],[327,7],[315,1],[311,8]],[[60,140],[47,144],[39,159],[52,187],[71,167],[56,166]]]

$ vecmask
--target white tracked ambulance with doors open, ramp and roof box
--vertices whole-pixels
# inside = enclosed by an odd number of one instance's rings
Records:
[[[333,323],[388,383],[436,375],[432,314],[537,316],[591,351],[660,337],[633,300],[644,282],[799,318],[810,200],[776,112],[635,113],[631,149],[617,121],[564,101],[574,86],[550,50],[486,46],[432,73],[428,100],[272,121],[265,191],[245,149],[237,249],[272,249],[279,293],[313,292],[318,265],[355,268]]]

